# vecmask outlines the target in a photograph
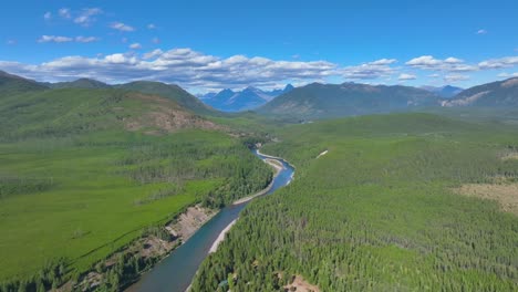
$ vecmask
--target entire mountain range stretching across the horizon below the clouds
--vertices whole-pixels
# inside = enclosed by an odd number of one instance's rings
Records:
[[[237,92],[224,90],[197,98],[178,85],[160,82],[136,81],[108,85],[95,80],[80,79],[72,82],[39,83],[0,71],[0,97],[46,91],[62,94],[63,92],[59,92],[59,90],[65,88],[110,93],[113,93],[110,90],[116,90],[118,94],[137,92],[143,97],[159,96],[174,102],[182,111],[195,115],[221,116],[225,114],[218,109],[226,112],[253,109],[265,116],[302,121],[407,112],[423,107],[518,106],[518,77],[487,83],[464,91],[454,86],[416,88],[402,85],[312,83],[297,88],[287,85],[283,90],[271,92],[256,87],[247,87]],[[452,96],[458,91],[460,92]]]

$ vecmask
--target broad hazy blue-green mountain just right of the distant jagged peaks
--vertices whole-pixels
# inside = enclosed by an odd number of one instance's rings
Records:
[[[283,94],[257,111],[296,118],[332,118],[407,111],[438,104],[438,96],[407,86],[312,83]]]

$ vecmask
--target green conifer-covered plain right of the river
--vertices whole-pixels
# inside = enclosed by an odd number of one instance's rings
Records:
[[[427,114],[282,128],[261,152],[294,181],[246,208],[193,291],[516,291],[518,217],[456,189],[516,184],[517,134]]]

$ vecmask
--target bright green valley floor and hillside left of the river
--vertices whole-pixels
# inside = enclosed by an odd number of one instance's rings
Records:
[[[166,111],[194,122],[147,118]],[[59,260],[70,278],[187,206],[218,208],[268,185],[271,170],[240,139],[196,128],[207,122],[183,111],[117,90],[2,97],[0,282],[38,282]]]

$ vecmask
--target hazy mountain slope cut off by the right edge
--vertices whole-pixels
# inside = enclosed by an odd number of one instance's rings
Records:
[[[506,107],[518,105],[518,77],[491,82],[457,94],[450,101],[444,101],[443,106],[485,106]]]

